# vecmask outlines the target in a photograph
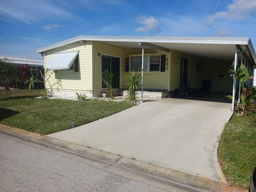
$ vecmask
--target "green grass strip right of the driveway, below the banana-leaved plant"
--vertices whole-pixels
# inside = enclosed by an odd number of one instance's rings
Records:
[[[256,106],[254,106],[256,107]],[[256,166],[256,114],[233,115],[219,144],[219,160],[231,185],[248,189]]]

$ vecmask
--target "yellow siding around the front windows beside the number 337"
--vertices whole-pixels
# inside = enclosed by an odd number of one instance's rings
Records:
[[[159,55],[165,55],[165,57],[168,59],[168,70],[165,70],[165,72],[158,72],[158,71],[147,71],[143,73],[143,88],[144,89],[159,89],[159,90],[168,90],[168,75],[169,70],[171,70],[170,67],[170,53],[162,52],[156,49],[144,49],[144,54],[159,54]],[[142,49],[133,49],[133,48],[126,48],[126,57],[129,57],[130,55],[142,55]],[[149,59],[149,58],[148,58]],[[148,66],[149,69],[149,66]],[[122,79],[123,80],[123,79]],[[123,82],[126,82],[124,79]]]

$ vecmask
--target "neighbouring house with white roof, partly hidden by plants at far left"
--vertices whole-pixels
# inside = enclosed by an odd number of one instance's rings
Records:
[[[32,67],[32,69],[36,69],[36,67],[41,70],[42,67],[44,67],[44,60],[35,60],[35,59],[22,59],[22,58],[14,58],[14,57],[5,57],[5,56],[0,56],[0,58],[7,58],[9,59],[9,62],[11,65],[16,65],[16,66],[22,66],[28,64],[29,66]],[[39,71],[33,71],[33,75],[36,78],[40,78],[41,74]],[[0,80],[0,84],[5,84],[3,80]],[[16,84],[14,80],[10,80],[9,84]]]

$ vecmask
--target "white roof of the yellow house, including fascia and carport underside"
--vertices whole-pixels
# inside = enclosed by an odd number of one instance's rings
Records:
[[[198,59],[211,61],[234,60],[235,45],[240,50],[248,47],[245,53],[255,65],[256,57],[250,38],[242,37],[114,37],[114,36],[78,36],[59,43],[37,49],[37,53],[58,48],[66,44],[84,41],[101,41],[123,48],[141,48],[139,42],[148,42],[164,48],[182,52]]]

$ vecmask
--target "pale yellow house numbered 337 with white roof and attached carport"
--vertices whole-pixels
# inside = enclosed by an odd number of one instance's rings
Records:
[[[126,73],[141,73],[142,51],[143,86],[148,91],[168,93],[190,85],[232,92],[233,76],[228,70],[233,60],[243,62],[251,74],[256,63],[250,38],[79,36],[37,49],[44,54],[45,68],[55,70],[50,84],[61,80],[61,86],[52,86],[54,94],[79,92],[89,97],[105,91],[105,70],[114,73],[112,87],[124,89]]]

